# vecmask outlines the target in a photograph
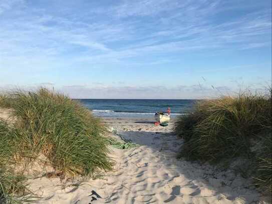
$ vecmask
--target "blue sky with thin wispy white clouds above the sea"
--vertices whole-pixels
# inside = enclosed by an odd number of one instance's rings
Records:
[[[2,91],[200,99],[270,84],[270,0],[0,0]]]

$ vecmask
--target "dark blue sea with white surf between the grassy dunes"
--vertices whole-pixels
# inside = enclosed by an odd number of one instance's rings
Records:
[[[78,99],[100,117],[153,117],[171,108],[171,117],[187,113],[196,100]]]

